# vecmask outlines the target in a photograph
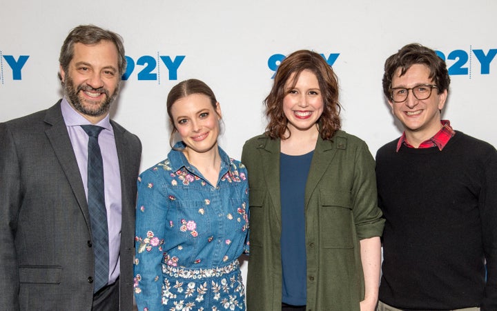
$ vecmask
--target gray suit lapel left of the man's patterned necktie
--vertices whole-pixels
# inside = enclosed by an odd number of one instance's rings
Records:
[[[52,145],[55,156],[59,161],[64,174],[72,188],[79,208],[84,215],[86,225],[90,228],[90,215],[88,212],[88,203],[84,192],[83,181],[76,161],[74,150],[70,142],[69,134],[66,128],[66,123],[62,117],[60,103],[55,104],[47,110],[45,123],[47,123],[45,134]]]

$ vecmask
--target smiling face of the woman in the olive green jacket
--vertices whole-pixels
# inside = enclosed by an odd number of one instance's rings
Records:
[[[318,78],[311,70],[303,70],[292,88],[294,78],[295,74],[292,74],[286,81],[286,95],[283,98],[283,112],[288,119],[288,128],[291,133],[318,130],[315,123],[324,108]]]

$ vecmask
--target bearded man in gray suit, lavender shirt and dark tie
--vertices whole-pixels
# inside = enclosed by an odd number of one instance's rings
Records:
[[[126,69],[121,37],[78,26],[64,41],[59,63],[64,98],[0,123],[0,308],[132,310],[142,145],[109,119]],[[99,126],[104,217],[92,212],[88,154],[95,148],[85,126]],[[106,230],[105,243],[92,229],[96,223]],[[101,262],[104,273],[97,276]]]

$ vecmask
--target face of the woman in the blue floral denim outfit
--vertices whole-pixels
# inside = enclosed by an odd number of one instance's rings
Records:
[[[221,108],[204,94],[191,94],[173,103],[170,108],[173,125],[188,153],[204,153],[217,147]]]

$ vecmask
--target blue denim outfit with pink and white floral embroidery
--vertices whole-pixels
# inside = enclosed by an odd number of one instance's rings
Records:
[[[140,175],[138,310],[245,310],[237,258],[249,251],[249,185],[244,165],[219,151],[217,185],[177,150]]]

